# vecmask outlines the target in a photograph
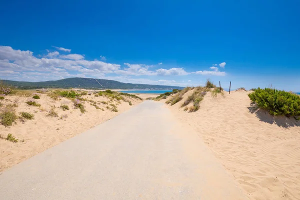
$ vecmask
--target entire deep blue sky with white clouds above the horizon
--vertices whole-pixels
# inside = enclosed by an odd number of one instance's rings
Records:
[[[300,91],[299,7],[296,0],[2,1],[0,78],[179,86],[210,78],[224,88],[231,81]]]

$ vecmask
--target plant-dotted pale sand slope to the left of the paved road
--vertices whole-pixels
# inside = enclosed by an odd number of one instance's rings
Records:
[[[82,97],[97,101],[96,105],[103,108],[104,111],[96,109],[90,105],[90,102],[83,101],[86,112],[82,114],[79,109],[73,108],[70,99],[61,98],[61,100],[55,101],[46,94],[39,95],[40,99],[35,99],[35,101],[41,104],[40,108],[44,108],[44,111],[41,111],[39,107],[25,104],[25,101],[30,99],[29,97],[7,96],[5,98],[10,101],[0,100],[4,105],[16,102],[18,104],[18,107],[16,107],[17,113],[25,111],[34,114],[33,120],[27,120],[24,123],[17,120],[17,124],[9,127],[0,124],[0,134],[3,137],[6,137],[8,133],[12,133],[13,136],[19,139],[17,143],[0,139],[0,171],[102,123],[141,102],[141,100],[135,98],[128,98],[132,103],[130,106],[128,102],[124,101],[118,104],[115,100],[109,101],[106,97],[96,97],[94,94],[84,95]],[[100,101],[106,101],[108,104],[100,103]],[[118,112],[106,108],[107,105],[111,107],[110,103],[117,106]],[[60,104],[67,104],[69,110],[63,111],[62,108],[59,108]],[[54,110],[58,112],[58,117],[46,116],[51,109],[51,105],[55,105]],[[64,114],[67,115],[67,118],[60,119],[59,117]],[[22,139],[24,139],[23,142],[20,141]]]

